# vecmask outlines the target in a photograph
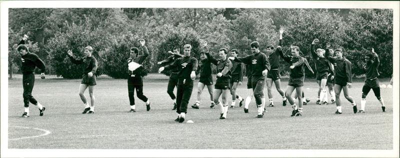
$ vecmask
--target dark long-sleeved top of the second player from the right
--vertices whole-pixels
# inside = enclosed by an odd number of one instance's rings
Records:
[[[329,56],[329,53],[325,53],[325,58],[327,58],[331,63],[336,64],[334,69],[335,78],[347,78],[347,82],[351,83],[351,62],[342,57],[341,59],[333,58]]]

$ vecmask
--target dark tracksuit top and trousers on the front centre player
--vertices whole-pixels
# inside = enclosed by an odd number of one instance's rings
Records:
[[[176,90],[176,112],[187,112],[187,104],[193,90],[191,71],[197,70],[197,59],[192,56],[177,58],[173,63],[164,66],[164,70],[178,68],[178,86]]]

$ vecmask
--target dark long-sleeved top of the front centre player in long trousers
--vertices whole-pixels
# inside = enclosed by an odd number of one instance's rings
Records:
[[[183,56],[177,58],[171,64],[164,66],[164,70],[170,70],[175,67],[178,68],[179,79],[186,79],[186,81],[190,81],[191,71],[197,70],[197,59],[192,56]]]

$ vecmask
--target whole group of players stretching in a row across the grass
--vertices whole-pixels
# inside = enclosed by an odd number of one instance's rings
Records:
[[[286,100],[290,103],[293,108],[291,116],[302,115],[302,105],[307,103],[308,100],[304,98],[303,92],[303,81],[304,81],[304,69],[307,67],[312,73],[314,73],[308,64],[308,61],[300,56],[301,51],[298,46],[290,46],[290,53],[283,53],[282,45],[282,34],[284,29],[279,30],[279,45],[276,48],[273,45],[268,45],[266,53],[260,51],[260,46],[257,41],[250,43],[250,49],[252,54],[238,57],[240,53],[237,49],[230,50],[230,53],[225,48],[220,48],[218,55],[219,58],[215,59],[205,43],[203,45],[204,50],[200,52],[200,60],[190,55],[191,45],[185,44],[183,46],[183,54],[180,54],[179,46],[173,48],[171,55],[157,64],[166,64],[158,69],[158,73],[166,70],[170,70],[170,76],[167,86],[167,93],[173,100],[173,108],[176,109],[177,118],[175,121],[183,122],[185,114],[187,113],[187,105],[193,89],[193,80],[196,77],[196,71],[199,72],[199,81],[197,84],[197,99],[191,106],[192,108],[198,109],[200,106],[200,95],[205,87],[207,86],[210,94],[210,108],[214,108],[215,105],[220,107],[220,119],[226,119],[228,102],[227,95],[228,90],[232,95],[232,102],[230,107],[235,107],[235,100],[239,101],[239,106],[242,106],[243,101],[244,112],[248,112],[248,105],[252,98],[255,99],[257,106],[257,118],[263,117],[265,112],[265,96],[264,86],[267,84],[267,93],[269,98],[269,105],[274,106],[271,87],[274,82],[276,90],[282,97],[282,105],[286,105]],[[17,50],[21,54],[21,70],[23,73],[23,101],[24,101],[24,112],[21,117],[29,117],[29,102],[36,105],[39,109],[39,115],[42,116],[45,107],[42,106],[34,97],[31,95],[31,91],[34,84],[34,73],[33,70],[37,66],[41,69],[41,78],[44,78],[44,62],[34,53],[30,53],[24,42],[27,36],[24,35],[22,40],[18,43]],[[141,66],[143,60],[148,56],[148,50],[145,46],[145,41],[139,39],[140,47],[132,47],[130,49],[130,57],[126,63],[128,65],[127,79],[128,85],[128,96],[130,103],[130,112],[135,112],[134,103],[134,91],[139,99],[146,103],[146,110],[150,110],[150,101],[143,94],[143,81]],[[357,112],[357,106],[353,98],[348,94],[349,88],[351,88],[351,62],[343,56],[343,52],[340,48],[332,48],[330,44],[326,44],[326,49],[317,48],[314,50],[314,45],[319,42],[318,39],[314,39],[311,43],[310,53],[315,61],[316,68],[316,79],[319,86],[317,92],[317,104],[327,104],[327,92],[325,86],[328,86],[329,93],[331,95],[332,103],[336,103],[336,114],[341,114],[341,101],[340,93],[343,90],[344,97],[353,105],[353,112]],[[140,50],[139,50],[140,49]],[[68,50],[67,54],[70,60],[75,64],[82,64],[82,80],[79,86],[79,96],[84,103],[84,111],[82,113],[94,113],[94,100],[93,95],[94,86],[96,85],[95,72],[97,69],[97,60],[92,55],[93,48],[86,46],[84,48],[83,57],[76,59],[73,56],[72,51]],[[141,54],[139,53],[141,52]],[[228,57],[228,53],[230,56]],[[101,56],[100,56],[101,57]],[[285,92],[280,89],[280,75],[279,75],[279,57],[283,58],[284,61],[290,64],[289,66],[289,80]],[[214,84],[214,90],[212,90],[212,75],[211,75],[211,63],[216,65],[216,82]],[[236,94],[236,88],[241,85],[243,78],[242,64],[246,67],[247,89],[251,89],[251,92],[246,92],[248,96],[243,98]],[[362,87],[362,98],[361,98],[361,109],[359,113],[364,112],[365,97],[370,91],[373,90],[375,96],[379,100],[382,111],[386,111],[383,99],[380,97],[379,81],[377,79],[379,58],[374,52],[373,48],[371,53],[365,55],[365,64],[363,66],[365,73],[365,83]],[[177,87],[176,96],[173,93],[174,87]],[[87,102],[85,95],[83,94],[85,89],[88,88],[90,95],[90,104]],[[292,92],[295,90],[296,97],[298,99],[298,105],[294,102],[291,97]],[[221,100],[219,100],[221,97]],[[324,99],[324,100],[323,100]]]

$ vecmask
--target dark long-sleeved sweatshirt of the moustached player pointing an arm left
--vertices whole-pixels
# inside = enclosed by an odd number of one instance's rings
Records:
[[[267,69],[269,71],[270,69],[268,58],[261,51],[245,57],[235,57],[233,61],[251,65],[252,76],[261,76],[263,70]]]

